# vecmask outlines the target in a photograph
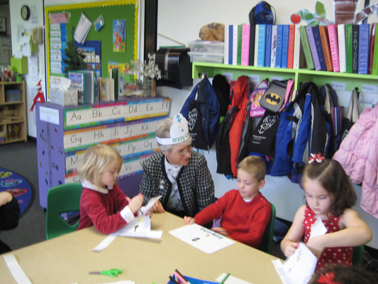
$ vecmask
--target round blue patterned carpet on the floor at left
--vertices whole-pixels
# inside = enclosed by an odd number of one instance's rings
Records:
[[[0,168],[0,192],[2,191],[8,191],[18,200],[21,217],[28,210],[34,199],[34,189],[30,182],[23,176],[4,168]]]

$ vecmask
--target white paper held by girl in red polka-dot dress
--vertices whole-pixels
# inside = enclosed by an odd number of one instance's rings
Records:
[[[277,259],[272,261],[274,268],[284,284],[307,284],[315,271],[318,259],[304,243],[282,264]]]

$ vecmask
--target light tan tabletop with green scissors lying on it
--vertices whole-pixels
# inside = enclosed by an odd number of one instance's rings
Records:
[[[162,230],[162,239],[118,236],[104,251],[91,251],[106,235],[94,227],[42,241],[13,251],[33,284],[112,283],[133,280],[135,284],[166,284],[174,269],[194,278],[215,281],[221,273],[254,284],[281,284],[271,260],[277,259],[236,242],[208,254],[175,238],[169,231],[184,226],[172,214],[154,214],[152,230]],[[0,256],[0,283],[16,284],[4,258]],[[118,278],[89,275],[89,271],[121,268]]]

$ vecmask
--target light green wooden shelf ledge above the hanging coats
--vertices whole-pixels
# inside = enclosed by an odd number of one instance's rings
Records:
[[[192,77],[198,78],[199,73],[204,73],[208,77],[214,77],[217,74],[232,73],[233,80],[238,77],[260,76],[260,81],[268,78],[277,80],[294,79],[294,89],[299,89],[301,82],[314,82],[321,87],[323,84],[341,83],[341,88],[345,91],[352,91],[358,87],[359,92],[369,89],[369,86],[377,86],[377,75],[360,75],[354,73],[325,72],[307,69],[285,69],[240,65],[225,65],[211,62],[193,62]]]

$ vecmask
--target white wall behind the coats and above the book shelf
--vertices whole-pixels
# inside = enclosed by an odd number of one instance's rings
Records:
[[[248,13],[257,2],[258,1],[250,0],[159,0],[157,32],[179,43],[187,44],[193,40],[199,39],[200,28],[208,23],[249,23]],[[267,2],[277,11],[277,24],[289,24],[291,23],[290,16],[292,13],[296,13],[296,11],[300,9],[314,11],[316,0],[269,0]],[[333,1],[323,0],[321,2],[326,6],[327,18],[333,21]],[[359,6],[361,9],[364,1],[360,2],[362,2]],[[370,1],[370,4],[377,2],[378,0]],[[377,22],[377,16],[372,16],[372,19],[369,19],[369,22],[372,21]],[[302,22],[302,24],[306,23]],[[180,45],[161,35],[157,36],[158,47],[164,45]],[[198,80],[194,80],[194,85],[197,82]],[[180,111],[182,104],[189,96],[192,88],[193,87],[185,87],[179,90],[169,87],[159,87],[158,92],[160,92],[162,96],[172,99],[170,111],[173,115]],[[349,98],[342,98],[341,100],[345,105],[349,102]],[[224,175],[216,173],[217,162],[214,147],[209,152],[200,151],[200,153],[206,156],[216,186],[216,197],[221,197],[228,190],[236,188],[235,180],[227,180]],[[287,177],[277,178],[267,175],[266,181],[266,185],[262,189],[262,194],[277,208],[277,217],[292,221],[296,210],[304,204],[304,192],[299,185],[291,183]],[[361,187],[355,186],[355,189],[357,196],[360,197]],[[359,204],[359,202],[360,200],[358,200],[357,204]],[[370,226],[374,236],[378,236],[378,220],[365,213],[360,205],[357,205],[355,209]],[[374,237],[368,245],[378,249],[378,239]]]

